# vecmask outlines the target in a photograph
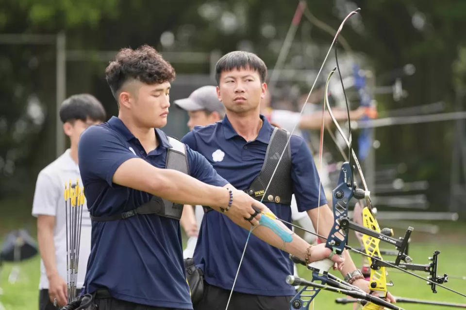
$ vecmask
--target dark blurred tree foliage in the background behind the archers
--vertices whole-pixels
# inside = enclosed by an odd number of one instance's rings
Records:
[[[65,31],[67,49],[117,50],[149,44],[164,51],[228,52],[250,49],[273,67],[297,1],[283,0],[1,0],[0,33]],[[408,96],[394,101],[378,95],[379,110],[444,101],[454,110],[466,82],[466,1],[317,0],[309,10],[336,29],[350,10],[343,35],[364,55],[376,75],[416,66],[403,78]],[[172,44],[161,44],[166,31]],[[303,17],[287,68],[318,68],[331,36]],[[313,47],[322,47],[313,49]],[[324,48],[325,47],[325,48]],[[67,95],[95,94],[109,114],[116,113],[105,84],[105,62],[68,62]],[[192,65],[174,63],[179,73]],[[195,68],[209,73],[209,66]],[[38,171],[54,158],[55,47],[0,45],[0,196],[29,195]],[[381,81],[389,85],[393,80]],[[303,89],[303,92],[308,90]],[[463,91],[464,93],[464,91]],[[37,106],[41,107],[39,111]],[[464,109],[464,106],[461,107]],[[41,113],[42,118],[41,118]],[[454,122],[404,125],[377,130],[378,164],[404,162],[407,180],[426,179],[448,191]],[[330,147],[330,146],[329,146]],[[434,201],[447,203],[443,194]],[[432,197],[431,197],[432,198]]]

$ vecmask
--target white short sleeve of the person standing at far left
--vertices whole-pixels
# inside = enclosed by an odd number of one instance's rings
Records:
[[[64,189],[64,188],[63,188]],[[37,176],[33,199],[33,216],[57,214],[57,201],[61,195],[53,179],[44,171]]]

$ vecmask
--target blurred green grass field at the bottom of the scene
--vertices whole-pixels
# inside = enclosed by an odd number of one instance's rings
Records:
[[[413,225],[416,228],[416,223]],[[400,235],[401,230],[396,231],[396,235]],[[1,239],[3,236],[1,236]],[[422,233],[413,233],[412,243],[410,247],[410,256],[413,258],[413,263],[428,263],[427,258],[432,256],[434,250],[441,250],[439,256],[439,274],[447,273],[449,276],[466,276],[466,225],[464,222],[456,223],[441,223],[440,233],[436,235],[428,235]],[[388,248],[382,245],[382,248]],[[361,262],[361,258],[355,254],[352,255],[356,264]],[[393,257],[385,257],[387,260],[392,260]],[[38,282],[39,282],[39,258],[35,258],[23,262],[21,266],[20,280],[15,284],[8,282],[11,263],[4,263],[1,277],[0,287],[3,289],[3,295],[0,296],[0,301],[5,310],[34,310],[38,305]],[[310,279],[310,272],[304,266],[299,267],[300,277]],[[449,301],[457,303],[466,303],[466,297],[451,293],[442,288],[438,288],[438,293],[433,294],[430,286],[425,281],[416,279],[413,276],[399,273],[393,269],[389,269],[389,280],[395,284],[389,288],[392,294],[396,296],[411,297],[418,299],[428,299],[437,301]],[[426,274],[418,273],[426,277]],[[338,275],[338,274],[336,274]],[[466,280],[464,279],[449,279],[446,286],[466,293]],[[352,309],[351,305],[337,305],[334,303],[336,297],[343,297],[329,292],[320,292],[316,298],[315,308],[318,310],[328,309]],[[400,307],[407,310],[429,310],[429,309],[452,309],[441,306],[426,306],[414,304],[399,304]],[[1,308],[0,308],[1,309]]]

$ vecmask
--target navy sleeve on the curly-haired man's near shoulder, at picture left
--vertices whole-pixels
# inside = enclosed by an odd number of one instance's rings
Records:
[[[112,186],[116,169],[128,159],[138,156],[125,147],[110,129],[97,125],[87,128],[81,135],[78,158],[84,183],[105,180]]]

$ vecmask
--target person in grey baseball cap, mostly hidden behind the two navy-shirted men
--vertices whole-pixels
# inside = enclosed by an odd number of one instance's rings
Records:
[[[188,112],[188,127],[206,126],[221,121],[225,116],[225,108],[218,100],[215,86],[202,86],[192,92],[188,98],[174,101],[175,105]],[[183,257],[193,257],[194,248],[198,241],[199,227],[204,216],[201,205],[185,205],[180,224],[188,237]]]

